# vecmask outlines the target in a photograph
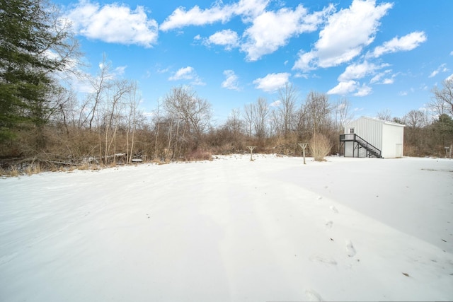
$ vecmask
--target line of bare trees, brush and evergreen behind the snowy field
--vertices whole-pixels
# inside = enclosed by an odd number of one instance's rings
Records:
[[[258,98],[212,119],[212,105],[190,86],[177,86],[151,115],[139,108],[137,82],[120,79],[106,57],[80,98],[65,79],[79,73],[81,53],[54,6],[42,0],[0,4],[0,157],[2,163],[40,165],[132,163],[208,159],[246,151],[299,154],[298,143],[328,142],[339,153],[339,134],[352,119],[346,98],[300,95],[287,83],[275,100]],[[445,156],[453,142],[453,79],[432,89],[427,110],[383,120],[406,124],[406,156]],[[318,143],[316,143],[318,142]]]

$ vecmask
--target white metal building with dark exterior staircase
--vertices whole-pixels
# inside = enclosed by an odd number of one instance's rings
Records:
[[[404,127],[396,122],[360,117],[345,124],[340,150],[346,157],[402,157]]]

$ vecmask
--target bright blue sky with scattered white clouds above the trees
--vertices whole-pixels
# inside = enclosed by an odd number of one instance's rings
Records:
[[[67,1],[81,51],[107,56],[136,80],[151,112],[173,86],[191,85],[224,120],[292,83],[347,98],[355,117],[424,108],[453,76],[453,1]],[[74,88],[84,91],[83,83]]]

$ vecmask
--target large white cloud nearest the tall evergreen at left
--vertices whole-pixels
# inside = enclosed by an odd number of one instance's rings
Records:
[[[131,10],[124,4],[100,6],[80,1],[65,18],[71,21],[77,35],[89,39],[151,47],[158,37],[157,22],[148,18],[143,6]]]

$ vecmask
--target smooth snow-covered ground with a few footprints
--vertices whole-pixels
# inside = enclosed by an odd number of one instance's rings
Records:
[[[0,179],[0,301],[452,301],[453,161],[217,156]]]

